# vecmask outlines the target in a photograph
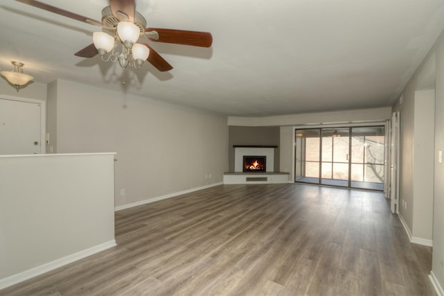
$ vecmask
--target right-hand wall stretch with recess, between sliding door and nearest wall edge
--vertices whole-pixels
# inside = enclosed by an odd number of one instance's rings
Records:
[[[435,92],[422,89],[432,73],[422,64],[393,108],[400,111],[400,216],[411,241],[423,245],[433,239]]]

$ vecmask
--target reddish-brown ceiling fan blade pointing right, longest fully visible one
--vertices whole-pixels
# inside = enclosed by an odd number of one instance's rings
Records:
[[[213,42],[211,33],[207,32],[182,31],[162,28],[147,28],[145,30],[145,32],[151,31],[156,31],[159,35],[159,38],[155,39],[150,34],[147,34],[146,37],[148,37],[148,39],[151,41],[202,47],[210,47]]]

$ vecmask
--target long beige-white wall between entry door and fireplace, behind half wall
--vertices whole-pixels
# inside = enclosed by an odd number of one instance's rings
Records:
[[[150,98],[57,80],[48,130],[58,153],[117,152],[116,206],[221,183],[228,171],[226,116]]]

